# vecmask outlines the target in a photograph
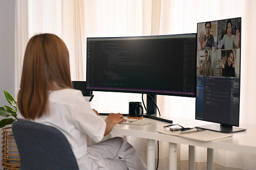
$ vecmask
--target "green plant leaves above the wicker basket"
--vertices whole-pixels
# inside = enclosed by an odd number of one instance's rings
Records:
[[[3,128],[9,124],[13,124],[13,122],[15,120],[18,120],[18,118],[17,118],[17,101],[13,98],[13,96],[10,93],[8,93],[5,90],[4,90],[4,92],[5,92],[6,99],[7,99],[8,103],[10,103],[14,108],[4,105],[5,107],[0,107],[0,115],[4,116],[4,117],[13,116],[15,119],[13,119],[13,118],[2,119],[0,121],[0,128]]]

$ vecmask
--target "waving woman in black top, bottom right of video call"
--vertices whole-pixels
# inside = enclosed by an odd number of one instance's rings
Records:
[[[223,60],[221,60],[220,66],[222,68],[222,76],[235,77],[234,53],[232,50],[229,51],[225,65]]]

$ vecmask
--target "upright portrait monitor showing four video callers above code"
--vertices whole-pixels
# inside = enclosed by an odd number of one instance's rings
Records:
[[[197,36],[196,119],[233,132],[239,126],[241,18],[198,23]]]

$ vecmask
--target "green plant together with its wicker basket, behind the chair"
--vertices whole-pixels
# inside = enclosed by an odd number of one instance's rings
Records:
[[[3,141],[2,141],[2,166],[4,168],[9,169],[19,168],[20,167],[20,156],[19,151],[16,146],[15,138],[13,136],[11,127],[5,127],[7,125],[12,125],[14,121],[18,120],[17,118],[17,101],[13,98],[13,96],[5,91],[5,96],[13,107],[4,105],[4,107],[0,107],[0,115],[7,117],[0,121],[0,128],[3,130]],[[14,118],[9,118],[10,116]]]

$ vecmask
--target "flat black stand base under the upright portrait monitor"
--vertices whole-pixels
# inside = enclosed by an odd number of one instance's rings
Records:
[[[239,127],[233,127],[232,125],[227,125],[227,124],[207,124],[207,125],[196,126],[196,127],[201,129],[206,129],[206,130],[217,131],[221,133],[234,133],[234,132],[246,130]]]

